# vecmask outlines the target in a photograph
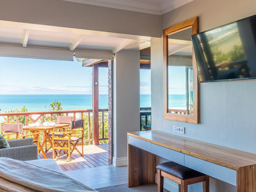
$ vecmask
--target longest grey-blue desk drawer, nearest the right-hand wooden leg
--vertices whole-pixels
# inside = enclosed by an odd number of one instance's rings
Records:
[[[236,170],[185,154],[185,166],[236,186]]]

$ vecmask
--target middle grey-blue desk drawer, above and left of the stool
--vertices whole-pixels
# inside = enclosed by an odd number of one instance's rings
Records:
[[[162,158],[169,159],[170,161],[177,162],[178,164],[184,165],[184,154],[170,150],[163,146],[155,145],[151,143],[151,153],[156,154]]]

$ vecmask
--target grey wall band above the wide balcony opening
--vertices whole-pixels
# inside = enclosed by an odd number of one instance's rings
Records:
[[[0,0],[0,20],[161,36],[161,16],[60,0]]]

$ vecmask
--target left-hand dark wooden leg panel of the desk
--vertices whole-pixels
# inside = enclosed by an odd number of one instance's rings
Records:
[[[154,183],[156,155],[128,144],[128,187]]]

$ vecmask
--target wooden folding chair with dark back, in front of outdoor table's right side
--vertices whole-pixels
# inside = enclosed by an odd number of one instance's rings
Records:
[[[56,134],[63,134],[59,137]],[[77,148],[78,143],[81,142],[82,150]],[[55,158],[55,151],[60,150]],[[81,156],[84,156],[84,119],[71,121],[70,129],[63,132],[52,132],[52,158],[56,161],[62,151],[68,154],[66,161],[70,162],[70,157],[73,151],[76,150]]]

